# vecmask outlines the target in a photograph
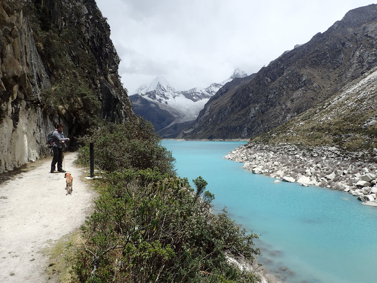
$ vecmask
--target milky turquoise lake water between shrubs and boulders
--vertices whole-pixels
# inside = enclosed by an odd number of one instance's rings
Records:
[[[260,234],[258,260],[271,274],[291,283],[377,282],[377,208],[342,191],[273,183],[222,158],[244,143],[162,141],[179,176],[208,182],[215,212],[226,206]]]

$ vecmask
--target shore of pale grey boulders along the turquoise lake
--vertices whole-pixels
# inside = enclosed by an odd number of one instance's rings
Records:
[[[247,143],[224,158],[244,163],[244,168],[302,186],[323,186],[354,195],[363,205],[377,206],[377,149],[348,152],[337,146],[299,149],[290,143]]]

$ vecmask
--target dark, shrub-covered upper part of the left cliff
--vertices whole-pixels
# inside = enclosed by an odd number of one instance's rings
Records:
[[[127,116],[132,115],[118,75],[119,58],[112,48],[109,25],[94,1],[29,1],[27,13],[51,81],[51,87],[43,87],[41,93],[41,107],[51,120],[64,117],[72,134],[78,135],[90,126],[103,125],[101,116],[124,122],[107,113],[104,85],[118,101],[123,98]],[[112,107],[115,112],[116,105]]]

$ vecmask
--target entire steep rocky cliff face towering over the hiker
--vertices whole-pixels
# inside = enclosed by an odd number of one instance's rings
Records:
[[[0,173],[48,154],[56,122],[72,139],[133,114],[109,34],[94,0],[0,0]]]

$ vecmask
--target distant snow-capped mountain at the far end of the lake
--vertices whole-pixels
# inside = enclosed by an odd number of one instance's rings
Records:
[[[231,77],[221,83],[212,83],[207,88],[192,88],[187,91],[176,91],[165,78],[156,77],[149,85],[140,86],[130,95],[130,100],[133,111],[144,116],[152,122],[156,131],[160,131],[177,123],[195,120],[208,99],[223,85],[234,78],[246,76],[244,71],[236,69]],[[171,131],[164,131],[164,135],[172,136],[171,134]]]

